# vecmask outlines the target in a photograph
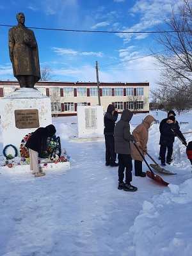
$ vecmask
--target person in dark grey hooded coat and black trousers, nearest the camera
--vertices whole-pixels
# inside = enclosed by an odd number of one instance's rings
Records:
[[[134,137],[130,133],[129,121],[132,118],[132,112],[124,109],[120,121],[117,122],[114,129],[115,152],[118,154],[118,189],[124,191],[136,191],[138,188],[131,185],[132,181],[132,158],[130,141]],[[124,183],[125,171],[125,183]]]

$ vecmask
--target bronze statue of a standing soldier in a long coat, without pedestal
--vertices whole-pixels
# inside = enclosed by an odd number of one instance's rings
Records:
[[[17,26],[9,30],[10,60],[21,88],[34,88],[40,79],[38,46],[33,30],[26,28],[24,13],[17,13]]]

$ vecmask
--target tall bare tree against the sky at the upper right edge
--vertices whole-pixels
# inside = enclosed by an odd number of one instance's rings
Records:
[[[192,93],[192,1],[182,0],[182,5],[172,8],[165,28],[158,28],[154,39],[162,46],[163,53],[155,58],[162,68],[161,86]]]

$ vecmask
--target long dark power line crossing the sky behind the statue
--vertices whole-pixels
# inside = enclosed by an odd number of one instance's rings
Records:
[[[4,27],[13,27],[12,25],[0,24]],[[15,26],[15,25],[14,25]],[[161,34],[161,33],[186,33],[191,32],[190,30],[185,31],[93,31],[93,30],[77,30],[77,29],[58,29],[58,28],[36,28],[28,27],[31,29],[42,29],[42,30],[52,30],[52,31],[69,31],[69,32],[85,32],[85,33],[112,33],[112,34]]]

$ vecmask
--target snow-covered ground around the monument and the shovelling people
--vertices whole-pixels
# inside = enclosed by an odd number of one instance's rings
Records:
[[[163,111],[151,111],[156,120]],[[131,131],[146,114],[134,115]],[[119,115],[120,118],[120,115]],[[118,118],[118,120],[119,120]],[[192,112],[176,119],[192,131]],[[134,176],[134,193],[118,190],[118,168],[105,166],[104,140],[77,142],[76,116],[53,118],[70,168],[31,172],[0,168],[1,256],[189,256],[192,252],[192,175],[186,147],[175,138],[173,163],[156,172],[168,186]],[[192,133],[186,134],[192,140]],[[3,151],[0,134],[0,150]],[[157,163],[159,125],[149,129],[148,154]],[[3,163],[1,156],[1,162]],[[152,161],[146,157],[148,163]],[[148,170],[143,163],[143,171]]]

